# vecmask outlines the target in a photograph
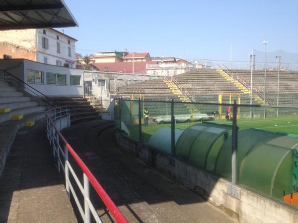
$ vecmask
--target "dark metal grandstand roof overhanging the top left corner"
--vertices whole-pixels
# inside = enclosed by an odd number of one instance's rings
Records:
[[[74,26],[64,0],[0,0],[0,30]]]

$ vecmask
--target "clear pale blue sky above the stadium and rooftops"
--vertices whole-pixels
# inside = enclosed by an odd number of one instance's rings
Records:
[[[297,0],[65,0],[76,53],[249,60],[251,49],[298,53]],[[61,30],[61,29],[59,29]]]

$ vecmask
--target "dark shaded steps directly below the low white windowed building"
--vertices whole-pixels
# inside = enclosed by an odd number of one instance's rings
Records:
[[[71,124],[83,121],[90,121],[100,118],[98,104],[91,104],[87,98],[56,98],[54,99],[57,106],[67,106],[71,114]]]

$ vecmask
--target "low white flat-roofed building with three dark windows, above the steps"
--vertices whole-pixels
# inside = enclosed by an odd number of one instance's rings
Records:
[[[0,67],[39,91],[32,91],[27,86],[23,90],[29,94],[42,93],[49,97],[83,96],[83,70],[27,59],[0,59]]]

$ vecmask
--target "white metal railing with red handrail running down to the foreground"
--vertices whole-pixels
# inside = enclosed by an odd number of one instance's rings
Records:
[[[60,130],[69,126],[70,114],[66,106],[55,108],[46,112],[47,137],[52,148],[53,156],[57,163],[58,171],[60,173],[61,170],[63,170],[65,174],[66,191],[69,199],[71,198],[72,194],[74,197],[75,204],[79,210],[79,213],[84,223],[91,223],[91,214],[96,223],[101,223],[100,217],[98,216],[90,200],[89,184],[91,183],[93,188],[96,190],[98,196],[109,209],[110,213],[113,215],[115,220],[118,223],[127,223],[122,213],[118,210],[111,198],[104,191],[102,186],[98,183],[91,171],[88,169],[88,167],[86,167],[86,165],[74,152],[74,149],[71,147],[71,145],[61,134]],[[61,145],[63,146],[63,148]],[[77,173],[72,167],[72,164],[69,161],[69,156],[72,156],[76,164],[81,168],[83,172],[83,184],[80,182]],[[62,160],[64,160],[64,162]],[[70,176],[74,178],[73,182],[70,180]],[[75,184],[78,187],[79,192],[83,196],[83,206],[80,203],[76,191],[74,190],[73,184]]]

